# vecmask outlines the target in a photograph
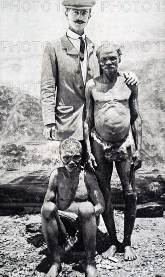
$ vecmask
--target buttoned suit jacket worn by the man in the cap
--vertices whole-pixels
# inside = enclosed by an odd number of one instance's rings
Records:
[[[99,76],[97,47],[86,37],[87,81]],[[57,141],[83,140],[85,86],[80,56],[68,37],[48,43],[43,57],[41,104],[44,125],[55,123]]]

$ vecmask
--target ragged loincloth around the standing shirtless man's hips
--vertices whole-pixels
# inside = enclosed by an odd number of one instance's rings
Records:
[[[101,147],[103,155],[108,162],[120,162],[130,157],[131,140],[129,133],[120,142],[110,143],[103,140],[95,128],[91,130],[91,137]],[[129,152],[128,152],[129,148]]]

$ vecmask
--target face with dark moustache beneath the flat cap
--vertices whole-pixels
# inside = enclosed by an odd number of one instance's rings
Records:
[[[70,9],[65,13],[69,26],[72,31],[81,31],[86,27],[90,15],[90,10],[73,10]]]

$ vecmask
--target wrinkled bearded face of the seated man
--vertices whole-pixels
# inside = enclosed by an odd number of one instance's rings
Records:
[[[76,172],[81,163],[81,153],[79,151],[71,151],[71,150],[62,150],[61,151],[61,160],[63,162],[64,167],[69,172]]]

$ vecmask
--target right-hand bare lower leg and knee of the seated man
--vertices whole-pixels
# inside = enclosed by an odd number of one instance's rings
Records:
[[[86,277],[99,277],[96,269],[96,218],[94,206],[90,202],[83,202],[79,205],[78,215],[81,221],[82,234],[86,251],[87,267]]]

